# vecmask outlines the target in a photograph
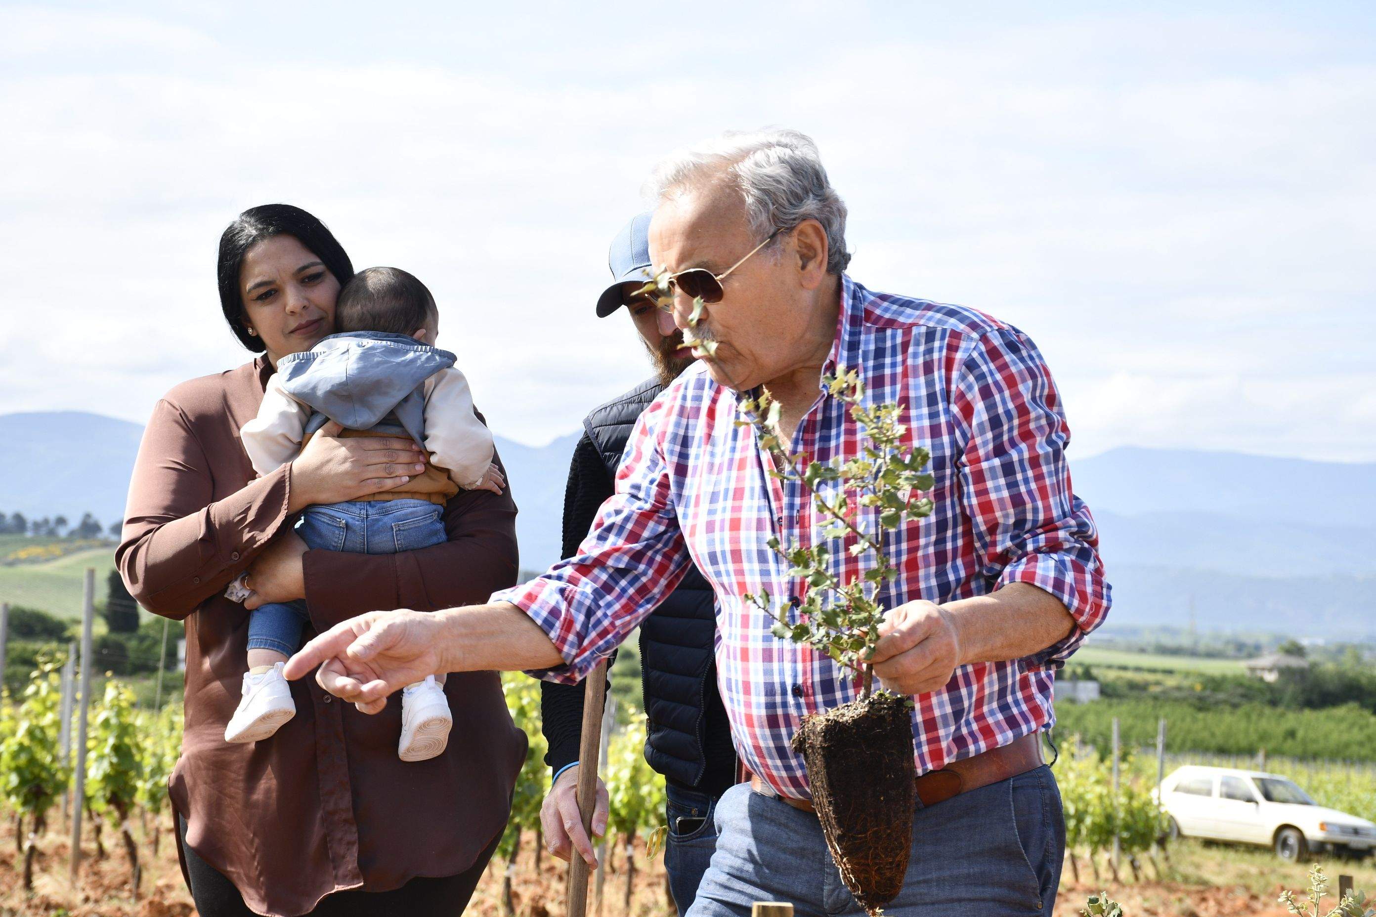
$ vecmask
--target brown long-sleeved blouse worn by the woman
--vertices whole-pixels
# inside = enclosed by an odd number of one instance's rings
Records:
[[[271,373],[259,357],[158,401],[116,560],[140,605],[186,621],[186,737],[169,789],[187,844],[255,912],[294,917],[334,891],[389,891],[472,866],[506,825],[526,736],[506,714],[497,675],[471,672],[450,675],[444,687],[458,741],[427,762],[396,756],[399,696],[367,716],[311,679],[292,685],[296,718],[277,736],[226,744],[248,612],[224,587],[292,522],[290,466],[253,480],[239,445]],[[509,491],[460,492],[444,525],[449,542],[420,551],[307,551],[311,627],[378,609],[482,602],[516,582]]]

